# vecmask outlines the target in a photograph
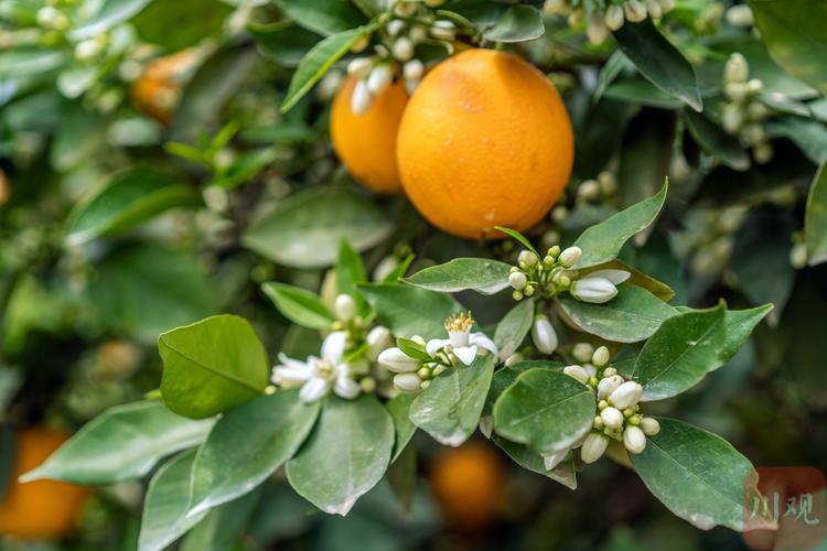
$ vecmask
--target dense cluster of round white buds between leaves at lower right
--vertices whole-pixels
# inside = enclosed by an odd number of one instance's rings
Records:
[[[612,439],[623,442],[630,453],[642,453],[646,447],[646,436],[654,436],[660,430],[656,419],[641,413],[638,402],[643,387],[636,381],[626,380],[609,365],[611,355],[605,346],[594,349],[581,343],[572,352],[582,365],[567,366],[563,372],[594,390],[598,401],[598,414],[591,432],[582,441],[580,458],[583,463],[594,463]],[[588,357],[589,353],[591,357]]]

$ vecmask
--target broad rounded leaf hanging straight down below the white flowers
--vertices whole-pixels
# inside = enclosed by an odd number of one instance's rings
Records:
[[[324,512],[344,516],[382,479],[393,449],[394,422],[375,397],[331,397],[304,447],[287,463],[287,479]]]

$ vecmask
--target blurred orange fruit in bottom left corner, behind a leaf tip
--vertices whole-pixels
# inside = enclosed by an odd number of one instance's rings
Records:
[[[72,530],[86,488],[56,480],[18,482],[19,476],[43,463],[67,439],[63,432],[44,428],[20,431],[12,478],[0,503],[0,534],[55,539]]]

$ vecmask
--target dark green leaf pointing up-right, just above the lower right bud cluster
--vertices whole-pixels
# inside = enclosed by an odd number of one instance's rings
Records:
[[[643,385],[643,401],[663,400],[694,387],[720,367],[724,343],[723,303],[666,320],[643,345],[632,377]]]

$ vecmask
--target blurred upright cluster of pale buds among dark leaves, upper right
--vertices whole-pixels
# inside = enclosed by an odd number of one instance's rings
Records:
[[[723,69],[723,94],[728,101],[721,107],[721,126],[727,133],[738,136],[741,143],[752,148],[752,156],[764,164],[773,156],[763,125],[770,117],[770,109],[759,97],[763,83],[749,76],[750,66],[744,56],[738,52],[730,55]]]

